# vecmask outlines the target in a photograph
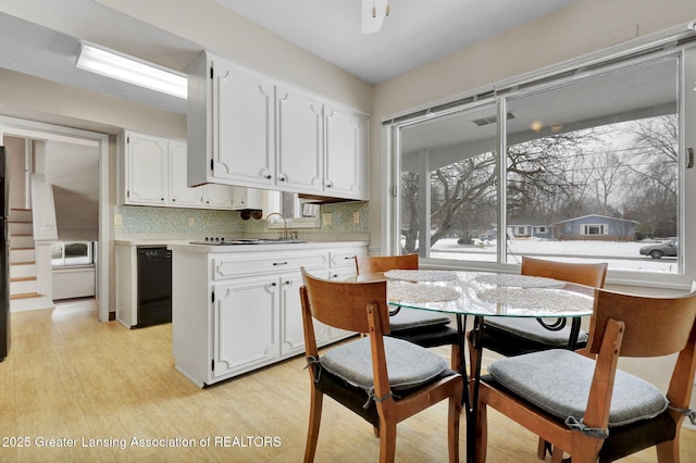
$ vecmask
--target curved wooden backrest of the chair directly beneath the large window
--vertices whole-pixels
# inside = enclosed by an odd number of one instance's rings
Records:
[[[604,288],[607,263],[580,264],[522,256],[522,275],[544,276],[579,285]]]

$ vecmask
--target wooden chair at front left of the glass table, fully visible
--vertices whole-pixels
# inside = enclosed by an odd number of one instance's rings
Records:
[[[449,461],[459,461],[463,379],[437,353],[385,336],[389,331],[386,281],[325,280],[304,268],[302,278],[300,299],[311,385],[304,462],[314,460],[324,395],[378,430],[380,462],[395,459],[397,423],[448,399]],[[368,336],[320,355],[313,320]]]

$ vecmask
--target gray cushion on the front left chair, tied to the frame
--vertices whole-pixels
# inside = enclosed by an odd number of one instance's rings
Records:
[[[384,338],[389,385],[393,390],[414,388],[432,381],[448,370],[435,352],[397,338]],[[374,387],[370,338],[338,346],[321,355],[322,367],[365,391]]]

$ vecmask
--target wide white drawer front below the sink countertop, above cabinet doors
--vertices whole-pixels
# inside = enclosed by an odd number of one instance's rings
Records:
[[[269,273],[297,272],[300,267],[316,270],[327,267],[326,252],[313,253],[247,253],[244,256],[212,259],[213,279]]]

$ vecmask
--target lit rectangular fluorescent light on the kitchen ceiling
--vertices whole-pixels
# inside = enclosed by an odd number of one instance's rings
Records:
[[[174,97],[187,96],[187,78],[183,74],[91,43],[79,45],[75,66]]]

